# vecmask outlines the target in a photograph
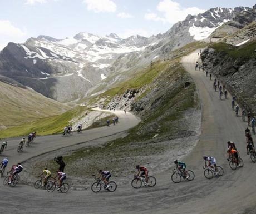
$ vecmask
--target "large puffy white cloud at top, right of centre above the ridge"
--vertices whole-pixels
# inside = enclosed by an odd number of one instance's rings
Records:
[[[144,18],[153,21],[162,21],[174,24],[183,21],[188,14],[196,15],[205,12],[204,9],[197,7],[183,8],[178,2],[172,0],[162,0],[156,7],[163,16],[157,16],[156,13],[146,13]]]

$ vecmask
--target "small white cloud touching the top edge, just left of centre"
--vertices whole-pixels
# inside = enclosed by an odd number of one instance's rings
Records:
[[[100,12],[115,12],[116,4],[111,0],[84,0],[88,11]]]

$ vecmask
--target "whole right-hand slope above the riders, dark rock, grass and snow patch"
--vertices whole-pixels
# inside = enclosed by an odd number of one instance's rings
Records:
[[[221,79],[229,91],[237,96],[241,107],[254,112],[256,112],[255,26],[255,22],[251,23],[232,37],[225,39],[227,43],[213,44],[201,54],[205,68]]]

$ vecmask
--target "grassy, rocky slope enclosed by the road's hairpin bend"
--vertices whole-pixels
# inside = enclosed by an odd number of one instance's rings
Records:
[[[141,76],[145,75],[147,89],[134,103],[134,111],[136,105],[141,104],[146,111],[141,116],[142,122],[132,128],[125,138],[109,142],[104,147],[84,148],[65,156],[69,175],[90,176],[99,168],[107,167],[114,175],[122,176],[124,171],[130,172],[137,163],[148,162],[152,157],[171,151],[175,146],[170,143],[171,139],[195,135],[190,123],[186,121],[188,118],[184,118],[186,112],[193,112],[198,108],[195,84],[179,59],[159,62],[155,66],[155,69],[146,70],[147,72],[120,84],[120,87],[105,92],[105,96],[112,96],[122,93],[127,86],[141,86],[137,83],[143,81]],[[140,115],[141,112],[137,113]],[[193,120],[192,115],[193,113],[189,120]],[[83,171],[79,170],[81,164],[86,165]],[[35,173],[38,168],[46,165],[55,168],[53,161],[42,161],[36,163]]]

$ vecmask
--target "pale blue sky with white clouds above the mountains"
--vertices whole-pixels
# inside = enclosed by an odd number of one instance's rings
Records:
[[[39,35],[149,37],[168,31],[188,14],[255,4],[255,0],[0,0],[0,50],[8,42],[23,43]]]

